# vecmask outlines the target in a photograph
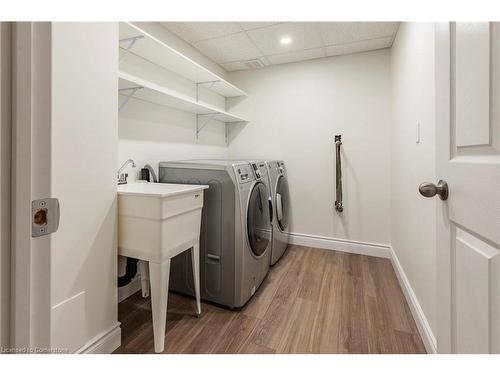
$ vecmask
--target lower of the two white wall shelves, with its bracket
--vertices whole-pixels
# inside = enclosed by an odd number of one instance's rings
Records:
[[[119,72],[119,92],[123,99],[120,109],[124,107],[130,97],[140,99],[149,103],[162,105],[185,112],[195,113],[200,116],[206,115],[211,120],[225,123],[246,122],[247,120],[222,111],[209,104],[197,102],[195,99],[160,86],[156,83],[136,77],[134,75]]]

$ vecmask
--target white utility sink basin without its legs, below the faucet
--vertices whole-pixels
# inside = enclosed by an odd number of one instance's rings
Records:
[[[200,235],[207,185],[118,185],[119,255],[160,263],[189,249]]]

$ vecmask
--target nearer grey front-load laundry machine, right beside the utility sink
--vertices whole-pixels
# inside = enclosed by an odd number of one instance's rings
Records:
[[[204,184],[200,289],[204,300],[243,306],[269,271],[271,214],[266,175],[248,162],[188,160],[160,163],[160,182]],[[170,288],[193,294],[190,253],[171,263]]]

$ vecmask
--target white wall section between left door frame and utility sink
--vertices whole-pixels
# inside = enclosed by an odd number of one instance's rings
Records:
[[[70,351],[117,325],[116,23],[52,24],[51,344]]]

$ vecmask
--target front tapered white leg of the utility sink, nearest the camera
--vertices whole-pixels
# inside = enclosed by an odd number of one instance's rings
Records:
[[[155,352],[161,353],[165,348],[170,259],[163,263],[149,262],[149,276],[151,279],[151,308],[153,311]]]

